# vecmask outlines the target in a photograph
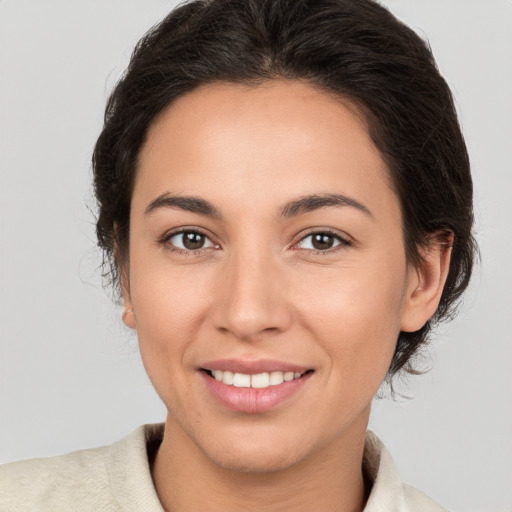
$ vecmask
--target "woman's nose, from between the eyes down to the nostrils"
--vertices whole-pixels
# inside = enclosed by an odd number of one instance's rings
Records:
[[[233,255],[221,274],[213,306],[218,330],[251,341],[289,328],[283,269],[268,253]]]

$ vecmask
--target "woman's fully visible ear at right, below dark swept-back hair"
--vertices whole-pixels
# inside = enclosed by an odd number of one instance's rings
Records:
[[[450,269],[452,245],[451,231],[432,233],[428,246],[420,250],[420,262],[410,266],[402,306],[401,331],[421,329],[436,312]]]

